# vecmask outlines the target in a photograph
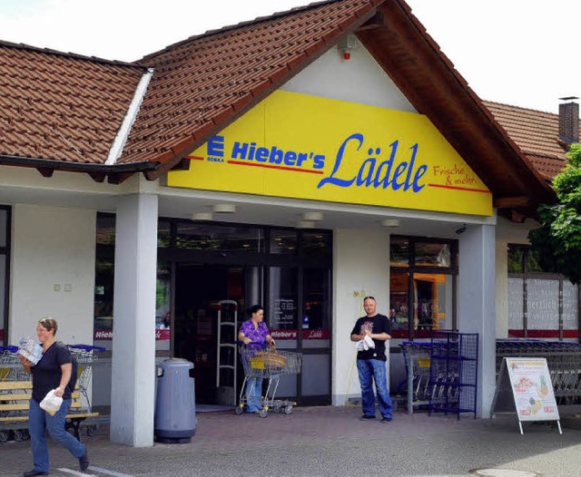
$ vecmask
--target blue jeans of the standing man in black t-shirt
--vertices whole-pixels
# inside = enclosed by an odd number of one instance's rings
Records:
[[[375,416],[375,394],[373,381],[378,392],[379,412],[382,417],[391,418],[393,406],[388,391],[388,376],[385,370],[385,361],[379,359],[358,359],[359,384],[361,385],[361,401],[363,415]]]

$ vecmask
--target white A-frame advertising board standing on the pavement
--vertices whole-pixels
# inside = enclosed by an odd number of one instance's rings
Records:
[[[510,411],[517,413],[520,433],[523,433],[521,422],[524,421],[556,421],[561,433],[546,358],[503,358],[492,412]]]

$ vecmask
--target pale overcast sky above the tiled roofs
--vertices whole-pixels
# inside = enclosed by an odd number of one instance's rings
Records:
[[[0,0],[0,40],[134,61],[309,0]],[[581,96],[579,0],[409,0],[483,100],[558,112]]]

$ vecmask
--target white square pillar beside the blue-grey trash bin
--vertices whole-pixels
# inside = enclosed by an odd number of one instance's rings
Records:
[[[115,220],[111,440],[153,445],[156,195],[123,196]]]

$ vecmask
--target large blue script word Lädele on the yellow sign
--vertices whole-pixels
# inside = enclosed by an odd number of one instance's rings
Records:
[[[318,189],[326,184],[334,185],[337,187],[350,187],[353,183],[357,187],[372,187],[374,189],[388,189],[403,190],[407,191],[411,188],[414,192],[419,192],[425,187],[425,184],[419,183],[419,180],[424,176],[428,170],[426,164],[421,164],[416,167],[416,155],[418,154],[418,144],[414,144],[411,149],[411,158],[409,162],[400,161],[399,164],[395,164],[396,154],[398,152],[399,141],[394,141],[389,144],[391,152],[389,154],[389,159],[386,161],[381,161],[378,164],[378,158],[373,157],[375,152],[376,156],[381,154],[381,148],[368,149],[369,157],[361,163],[359,171],[353,177],[345,177],[347,174],[343,174],[344,167],[342,166],[343,160],[351,161],[352,158],[346,157],[347,151],[357,152],[363,146],[363,134],[355,133],[351,134],[340,145],[339,151],[337,152],[337,158],[335,159],[335,164],[333,170],[329,177],[323,178],[319,181]],[[394,167],[395,166],[395,167]]]

